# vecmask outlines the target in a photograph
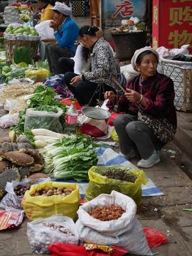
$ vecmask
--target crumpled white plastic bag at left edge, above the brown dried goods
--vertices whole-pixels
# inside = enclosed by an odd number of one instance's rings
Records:
[[[16,124],[18,122],[18,113],[11,114],[13,112],[14,107],[16,106],[16,101],[11,102],[9,113],[4,114],[2,117],[0,117],[0,127],[5,129],[10,127],[13,124]]]

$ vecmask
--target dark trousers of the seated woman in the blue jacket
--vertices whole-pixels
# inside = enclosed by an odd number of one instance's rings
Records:
[[[58,65],[58,59],[60,57],[74,57],[75,53],[68,48],[61,48],[57,43],[46,43],[46,58],[48,59],[48,65],[50,73],[58,75],[62,73],[62,68]]]

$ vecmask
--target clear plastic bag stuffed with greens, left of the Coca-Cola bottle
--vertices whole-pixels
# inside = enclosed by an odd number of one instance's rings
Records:
[[[44,128],[49,129],[53,132],[62,133],[63,127],[60,124],[59,117],[63,114],[63,110],[58,107],[58,112],[47,112],[47,111],[35,111],[34,109],[28,108],[26,110],[26,119],[24,124],[24,130]]]

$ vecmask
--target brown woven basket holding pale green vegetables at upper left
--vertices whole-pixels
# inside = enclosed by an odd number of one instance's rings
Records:
[[[5,45],[5,52],[6,52],[6,61],[12,62],[14,56],[14,48],[21,47],[21,46],[31,46],[33,49],[32,51],[32,58],[33,60],[36,58],[38,52],[38,43],[37,41],[28,41],[28,40],[9,40],[4,38],[4,45]]]

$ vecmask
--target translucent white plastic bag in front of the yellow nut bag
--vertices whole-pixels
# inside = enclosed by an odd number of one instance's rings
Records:
[[[48,246],[53,242],[78,245],[78,231],[73,220],[62,214],[49,218],[38,218],[27,223],[28,242],[32,252],[49,253]]]

